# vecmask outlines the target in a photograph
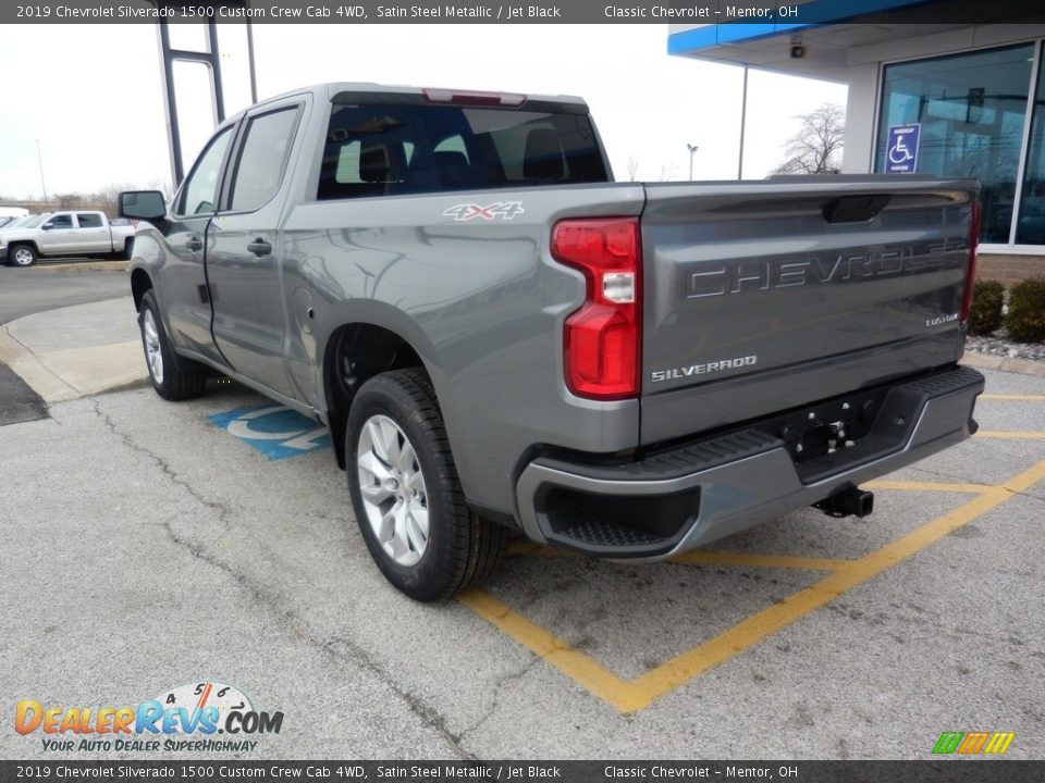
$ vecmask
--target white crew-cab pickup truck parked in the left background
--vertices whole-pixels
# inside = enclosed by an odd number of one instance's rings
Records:
[[[41,256],[111,256],[131,258],[133,225],[110,225],[104,212],[51,212],[35,226],[0,232],[0,261],[32,266]]]

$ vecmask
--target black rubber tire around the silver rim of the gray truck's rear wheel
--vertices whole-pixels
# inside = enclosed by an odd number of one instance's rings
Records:
[[[357,450],[364,428],[374,417],[391,419],[398,427],[414,449],[414,471],[419,469],[423,476],[428,538],[420,559],[413,564],[397,562],[385,550],[364,501]],[[508,530],[480,518],[465,502],[435,393],[422,371],[394,370],[362,385],[348,414],[345,455],[359,532],[378,568],[396,588],[416,600],[432,601],[477,587],[490,577],[507,550]],[[398,507],[403,500],[392,497],[385,502]],[[376,504],[369,508],[374,510]]]

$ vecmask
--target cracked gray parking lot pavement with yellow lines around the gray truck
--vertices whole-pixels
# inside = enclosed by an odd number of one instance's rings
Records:
[[[212,679],[285,714],[248,758],[929,758],[943,731],[1042,758],[1045,380],[987,375],[981,434],[876,482],[868,519],[653,564],[517,544],[441,606],[383,581],[329,447],[239,410],[262,398],[54,405],[2,430],[0,755],[45,754],[16,699]]]

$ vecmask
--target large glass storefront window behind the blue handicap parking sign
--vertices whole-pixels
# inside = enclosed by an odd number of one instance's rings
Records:
[[[988,49],[885,69],[875,170],[886,170],[889,128],[919,123],[918,174],[980,181],[982,243],[1009,241],[1034,46]],[[1038,89],[1041,95],[1041,84]],[[1045,116],[1041,122],[1045,125]],[[1045,132],[1045,127],[1042,129]],[[1043,146],[1045,139],[1040,138],[1038,147]],[[1037,160],[1042,165],[1035,170],[1038,173],[1033,183],[1045,201],[1045,150],[1040,149]],[[1030,197],[1024,186],[1024,210]],[[1045,209],[1040,214],[1042,223],[1036,231],[1042,238],[1034,241],[1045,243]]]

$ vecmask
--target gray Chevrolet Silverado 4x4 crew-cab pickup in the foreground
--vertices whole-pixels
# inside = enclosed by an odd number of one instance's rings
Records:
[[[121,195],[152,384],[325,424],[384,575],[431,600],[513,532],[662,559],[975,430],[976,184],[614,183],[568,97],[333,84]]]

